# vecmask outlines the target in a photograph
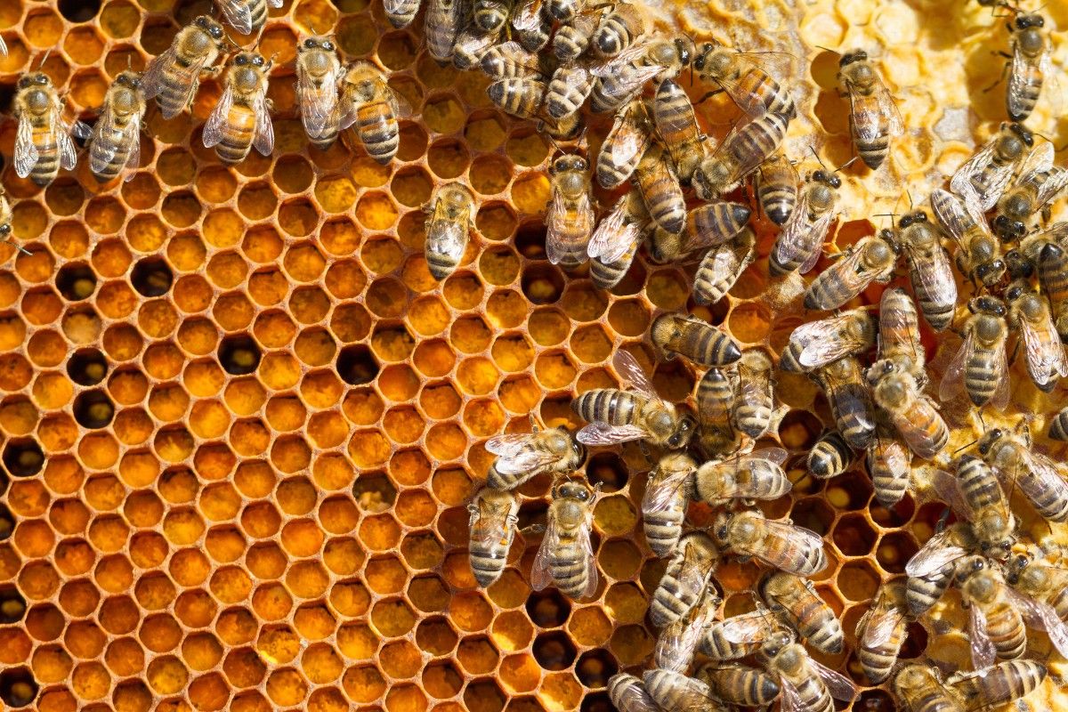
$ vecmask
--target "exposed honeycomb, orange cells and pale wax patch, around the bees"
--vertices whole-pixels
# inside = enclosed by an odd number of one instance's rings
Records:
[[[899,211],[902,186],[920,200],[941,184],[1004,117],[1001,92],[984,89],[1001,70],[990,50],[1006,48],[1006,34],[976,3],[660,10],[665,26],[698,39],[816,57],[795,84],[787,149],[797,158],[810,146],[835,165],[852,155],[836,58],[815,47],[863,46],[881,59],[909,133],[883,171],[845,172],[838,249],[873,234],[876,215]],[[46,712],[609,709],[607,679],[646,664],[656,635],[645,613],[664,561],[647,549],[639,510],[648,461],[632,444],[592,454],[602,583],[595,600],[572,602],[532,592],[531,537],[498,583],[475,585],[465,504],[490,462],[483,443],[527,430],[530,413],[550,427],[582,425],[570,400],[617,385],[607,364],[618,348],[651,368],[647,331],[665,312],[781,350],[811,317],[765,299],[769,225],[756,223],[761,258],[711,307],[690,298],[694,265],[658,265],[644,251],[610,292],[584,270],[564,273],[545,258],[552,146],[488,100],[483,76],[430,59],[420,20],[393,30],[368,0],[286,0],[270,11],[258,39],[276,58],[270,157],[229,169],[202,146],[221,93],[214,78],[191,116],[166,122],[150,110],[142,165],[127,183],[97,184],[85,160],[43,189],[14,175],[11,98],[46,51],[44,70],[90,117],[111,79],[142,69],[207,12],[207,0],[0,3],[10,49],[0,59],[2,183],[14,237],[30,252],[0,244],[0,698],[32,698]],[[1043,13],[1068,28],[1068,5]],[[309,146],[293,60],[312,32],[335,35],[348,59],[376,58],[417,108],[391,164],[342,142]],[[1063,69],[1068,35],[1052,38]],[[722,96],[701,113],[717,136],[734,116]],[[1030,123],[1056,145],[1068,139],[1052,101]],[[603,137],[596,128],[590,152]],[[423,257],[422,206],[453,179],[476,195],[476,231],[439,284]],[[654,383],[684,401],[700,375],[676,360],[656,365]],[[1014,378],[1008,421],[1034,413],[1033,431],[1045,432],[1053,398],[1022,371]],[[827,402],[791,375],[776,394],[787,412],[772,440],[801,454],[830,422]],[[956,431],[951,447],[973,429]],[[847,647],[815,656],[859,683],[852,709],[894,709],[885,685],[864,680],[852,631],[943,506],[921,492],[888,510],[860,465],[824,482],[803,458],[791,463],[792,494],[761,506],[826,537],[831,566],[817,590],[841,615]],[[521,488],[520,525],[543,516],[549,485]],[[689,518],[702,526],[709,515],[695,505]],[[1064,535],[1030,525],[1035,537]],[[752,606],[758,573],[720,568],[726,615]],[[934,617],[959,630],[954,597]],[[925,619],[910,626],[902,656],[963,664],[967,646]]]

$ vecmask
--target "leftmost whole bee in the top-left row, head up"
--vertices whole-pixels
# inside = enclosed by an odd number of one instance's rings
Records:
[[[18,177],[29,176],[38,186],[47,186],[60,168],[69,171],[77,164],[77,147],[70,137],[84,139],[90,131],[79,121],[64,120],[63,108],[48,75],[33,72],[18,80],[12,105],[12,114],[18,120],[14,156]]]

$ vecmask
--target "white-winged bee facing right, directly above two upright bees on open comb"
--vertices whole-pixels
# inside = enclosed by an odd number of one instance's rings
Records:
[[[500,490],[514,490],[544,473],[564,475],[578,470],[586,459],[586,448],[566,428],[493,436],[486,450],[497,456],[486,474],[486,482]]]

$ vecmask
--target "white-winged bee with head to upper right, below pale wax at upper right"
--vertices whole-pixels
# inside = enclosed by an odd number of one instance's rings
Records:
[[[1027,149],[1034,145],[1035,137],[1023,125],[1002,124],[994,138],[953,174],[949,190],[965,203],[974,204],[976,212],[986,212],[998,204],[1012,174],[1028,157]],[[1030,156],[1038,153],[1031,151]]]

